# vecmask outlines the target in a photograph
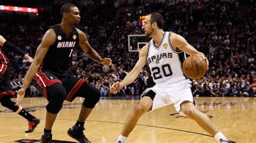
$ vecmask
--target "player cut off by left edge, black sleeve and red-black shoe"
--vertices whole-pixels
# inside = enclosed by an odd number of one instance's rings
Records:
[[[18,113],[18,115],[21,115],[27,119],[29,121],[29,128],[25,130],[25,132],[31,133],[40,123],[40,119],[32,116],[29,112],[24,110],[21,105],[15,106],[15,102],[11,101],[11,97],[15,95],[15,92],[11,87],[11,81],[9,79],[11,73],[11,68],[8,64],[9,61],[4,54],[4,52],[9,51],[24,56],[25,59],[29,60],[29,62],[33,61],[33,59],[28,54],[26,54],[11,42],[5,40],[5,38],[0,35],[0,102],[4,107]]]

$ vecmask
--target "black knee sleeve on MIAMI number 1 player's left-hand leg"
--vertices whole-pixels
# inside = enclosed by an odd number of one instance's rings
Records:
[[[66,89],[62,84],[55,83],[47,88],[47,94],[49,103],[46,105],[46,110],[50,113],[58,113],[66,98]]]

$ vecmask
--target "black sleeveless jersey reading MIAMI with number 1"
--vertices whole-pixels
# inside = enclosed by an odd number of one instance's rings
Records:
[[[68,69],[73,48],[79,42],[78,32],[76,27],[72,28],[72,32],[67,36],[59,25],[53,25],[52,28],[56,33],[56,41],[51,45],[46,53],[42,69],[53,71],[57,74],[64,74]]]

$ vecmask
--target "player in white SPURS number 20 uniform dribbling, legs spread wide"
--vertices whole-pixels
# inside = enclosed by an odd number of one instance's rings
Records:
[[[111,87],[111,92],[116,93],[126,85],[132,83],[140,69],[146,62],[156,83],[152,88],[147,88],[141,95],[138,105],[127,117],[125,125],[116,142],[125,142],[133,130],[140,116],[147,111],[153,111],[166,105],[174,104],[177,112],[195,120],[206,132],[210,133],[218,142],[231,142],[226,139],[212,121],[193,104],[191,81],[186,79],[182,70],[181,56],[184,52],[188,55],[205,55],[198,52],[180,35],[163,31],[164,20],[159,13],[150,13],[145,17],[143,30],[146,36],[152,39],[139,53],[136,66],[126,75],[122,82],[116,82]]]

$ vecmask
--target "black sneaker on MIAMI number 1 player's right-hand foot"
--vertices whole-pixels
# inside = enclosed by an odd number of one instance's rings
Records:
[[[72,126],[68,130],[68,135],[79,142],[91,143],[91,141],[89,141],[85,137],[83,132],[84,130],[85,130],[84,127]]]

